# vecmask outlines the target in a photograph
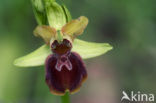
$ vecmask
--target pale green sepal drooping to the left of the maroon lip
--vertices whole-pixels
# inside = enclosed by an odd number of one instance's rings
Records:
[[[14,61],[19,67],[33,67],[43,65],[46,57],[51,53],[48,45],[43,45],[34,52],[20,57]]]

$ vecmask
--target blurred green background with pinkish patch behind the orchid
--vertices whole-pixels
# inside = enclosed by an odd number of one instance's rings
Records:
[[[89,25],[79,38],[114,49],[85,61],[88,80],[72,103],[120,103],[122,91],[156,94],[156,0],[64,0],[73,18]],[[43,67],[19,68],[17,57],[44,42],[30,0],[0,0],[0,103],[60,103],[45,84]]]

